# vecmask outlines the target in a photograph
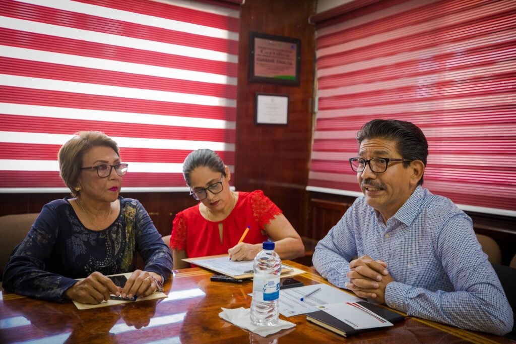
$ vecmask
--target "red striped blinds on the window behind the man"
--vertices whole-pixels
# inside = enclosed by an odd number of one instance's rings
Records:
[[[361,195],[347,161],[356,133],[393,118],[425,133],[432,193],[516,216],[516,2],[368,3],[316,26],[308,189]]]

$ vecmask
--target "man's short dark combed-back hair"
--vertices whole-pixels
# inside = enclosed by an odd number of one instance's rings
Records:
[[[426,166],[428,157],[428,142],[425,134],[415,124],[397,119],[373,119],[364,124],[357,133],[360,146],[365,139],[383,138],[396,143],[396,149],[401,158],[421,160]],[[408,166],[410,162],[404,162]],[[418,185],[423,184],[423,176]]]

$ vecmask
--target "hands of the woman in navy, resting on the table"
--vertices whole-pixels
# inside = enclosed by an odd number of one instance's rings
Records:
[[[123,298],[132,298],[134,295],[144,298],[157,290],[153,277],[158,280],[161,279],[161,276],[153,272],[135,270],[127,278],[125,286],[121,288],[116,286],[108,277],[95,271],[70,287],[64,296],[73,301],[93,305],[109,300],[110,294],[122,295]]]

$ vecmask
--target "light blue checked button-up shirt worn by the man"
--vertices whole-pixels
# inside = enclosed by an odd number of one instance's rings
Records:
[[[315,247],[315,269],[345,288],[349,261],[368,255],[388,263],[396,282],[388,306],[410,316],[503,335],[512,310],[472,221],[448,198],[418,186],[387,224],[359,197]]]

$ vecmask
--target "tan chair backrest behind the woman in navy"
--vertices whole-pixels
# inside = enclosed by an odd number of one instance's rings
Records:
[[[0,280],[11,253],[27,235],[39,213],[0,216]]]

